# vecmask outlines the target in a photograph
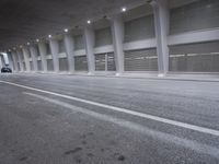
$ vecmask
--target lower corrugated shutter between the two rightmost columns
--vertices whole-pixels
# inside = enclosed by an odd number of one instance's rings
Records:
[[[125,71],[158,71],[155,49],[125,51]]]

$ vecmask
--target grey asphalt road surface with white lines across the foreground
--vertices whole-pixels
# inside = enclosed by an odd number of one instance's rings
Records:
[[[218,164],[218,82],[1,74],[0,164]]]

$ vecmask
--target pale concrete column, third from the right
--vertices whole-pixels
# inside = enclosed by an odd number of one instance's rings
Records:
[[[94,52],[93,52],[93,47],[95,44],[95,34],[91,26],[87,26],[84,28],[84,40],[85,40],[89,74],[93,74],[95,71]]]

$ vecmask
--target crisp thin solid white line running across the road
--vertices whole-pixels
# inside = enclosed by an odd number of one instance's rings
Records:
[[[31,91],[37,91],[37,92],[41,92],[41,93],[46,93],[46,94],[59,96],[59,97],[62,97],[62,98],[72,99],[72,101],[77,101],[77,102],[81,102],[81,103],[107,108],[107,109],[119,112],[119,113],[129,114],[129,115],[132,115],[132,116],[138,116],[138,117],[146,118],[146,119],[151,119],[151,120],[169,124],[169,125],[172,125],[172,126],[177,126],[177,127],[181,127],[181,128],[191,129],[191,130],[194,130],[194,131],[199,131],[199,132],[203,132],[203,133],[219,136],[219,130],[215,130],[215,129],[210,129],[210,128],[205,128],[205,127],[199,127],[199,126],[195,126],[195,125],[191,125],[191,124],[186,124],[186,122],[171,120],[171,119],[162,118],[162,117],[159,117],[159,116],[153,116],[153,115],[148,115],[148,114],[139,113],[139,112],[134,112],[134,110],[122,108],[122,107],[115,107],[115,106],[112,106],[112,105],[106,105],[106,104],[102,104],[102,103],[87,101],[87,99],[82,99],[82,98],[78,98],[78,97],[73,97],[73,96],[69,96],[69,95],[64,95],[64,94],[60,94],[60,93],[55,93],[55,92],[50,92],[50,91],[46,91],[46,90],[25,86],[25,85],[12,83],[12,82],[7,82],[7,81],[0,81],[0,82],[4,83],[4,84],[10,84],[10,85],[27,89],[27,90],[31,90]]]

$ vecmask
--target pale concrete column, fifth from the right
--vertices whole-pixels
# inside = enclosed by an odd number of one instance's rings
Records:
[[[51,56],[53,56],[53,61],[54,61],[54,71],[59,72],[58,40],[55,38],[50,38],[49,45],[50,45]]]

